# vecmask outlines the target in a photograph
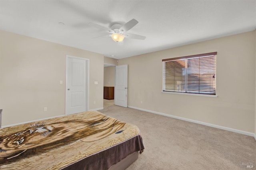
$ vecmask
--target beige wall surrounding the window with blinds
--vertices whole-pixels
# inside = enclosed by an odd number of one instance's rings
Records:
[[[162,59],[214,51],[217,98],[161,92]],[[128,64],[128,106],[254,133],[255,31],[120,59],[122,64]]]

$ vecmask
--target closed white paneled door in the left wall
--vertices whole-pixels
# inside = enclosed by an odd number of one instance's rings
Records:
[[[89,60],[66,56],[66,115],[87,111]]]

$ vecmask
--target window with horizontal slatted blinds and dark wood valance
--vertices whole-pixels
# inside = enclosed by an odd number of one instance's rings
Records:
[[[163,59],[163,91],[216,95],[216,55]]]

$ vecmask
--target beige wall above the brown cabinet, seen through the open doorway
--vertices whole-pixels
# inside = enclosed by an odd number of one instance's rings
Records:
[[[115,86],[116,66],[104,67],[104,86]]]

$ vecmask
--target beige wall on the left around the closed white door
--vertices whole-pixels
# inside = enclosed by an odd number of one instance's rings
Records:
[[[2,125],[65,114],[66,55],[90,59],[89,109],[102,108],[103,55],[0,31]]]

